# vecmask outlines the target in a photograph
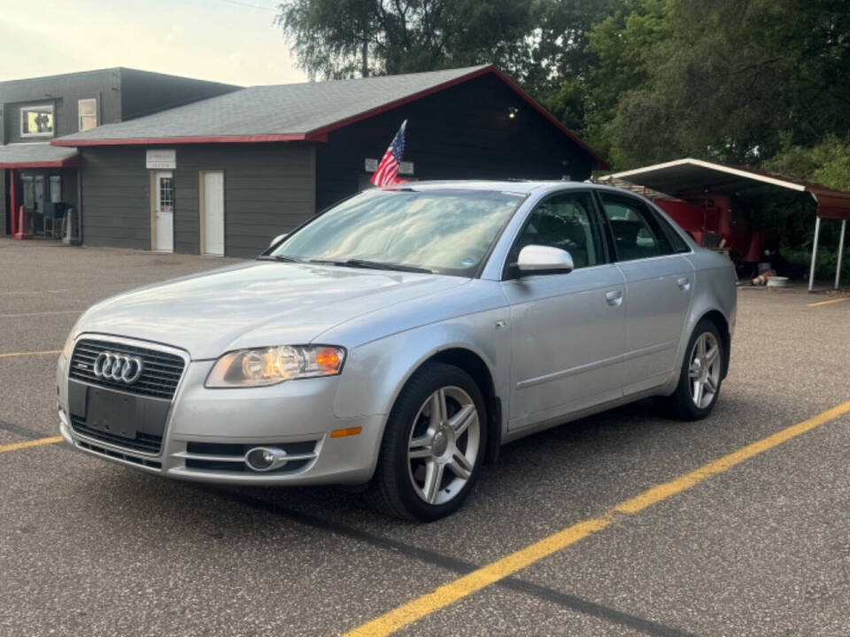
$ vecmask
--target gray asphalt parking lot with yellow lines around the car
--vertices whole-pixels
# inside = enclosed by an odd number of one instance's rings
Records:
[[[0,240],[0,634],[850,634],[850,301],[742,290],[710,418],[537,434],[414,525],[55,441],[77,315],[225,262]]]

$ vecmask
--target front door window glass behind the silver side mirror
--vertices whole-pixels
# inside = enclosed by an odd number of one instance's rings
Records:
[[[567,250],[576,269],[605,263],[591,193],[565,193],[539,203],[514,244],[508,264],[515,264],[520,250],[528,245]]]

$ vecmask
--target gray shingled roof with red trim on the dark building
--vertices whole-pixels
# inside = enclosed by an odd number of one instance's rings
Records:
[[[59,137],[54,146],[325,141],[328,132],[413,99],[492,73],[588,152],[576,134],[494,65],[382,77],[243,88],[118,124]]]

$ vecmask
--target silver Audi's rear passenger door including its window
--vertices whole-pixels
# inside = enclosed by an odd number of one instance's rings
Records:
[[[599,191],[599,198],[629,299],[623,394],[630,395],[662,385],[673,372],[691,306],[694,270],[645,202],[607,191]]]

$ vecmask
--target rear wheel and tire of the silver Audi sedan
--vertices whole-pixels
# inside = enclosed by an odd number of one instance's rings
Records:
[[[700,349],[702,347],[699,344],[700,341],[705,343],[706,349]],[[708,369],[706,370],[706,357],[710,355],[714,347],[717,348],[717,354],[708,362]],[[700,351],[704,351],[705,355],[700,357]],[[700,320],[694,327],[688,341],[688,347],[685,349],[676,391],[659,401],[663,411],[673,418],[682,420],[693,421],[706,418],[714,409],[717,397],[720,395],[726,356],[727,352],[723,346],[720,330],[712,321],[708,319]],[[695,359],[697,360],[695,361]],[[699,374],[699,376],[694,376],[694,374]],[[699,403],[697,400],[697,380],[703,384]]]

